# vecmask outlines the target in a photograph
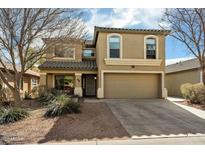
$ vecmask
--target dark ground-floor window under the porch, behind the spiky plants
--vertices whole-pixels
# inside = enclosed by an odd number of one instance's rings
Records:
[[[68,94],[74,92],[74,76],[72,75],[56,75],[55,76],[55,88],[57,90],[63,90]]]

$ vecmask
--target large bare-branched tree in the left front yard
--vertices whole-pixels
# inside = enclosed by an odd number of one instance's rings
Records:
[[[42,38],[83,39],[86,34],[79,9],[0,9],[0,79],[12,91],[15,102],[21,104],[24,73],[45,55]]]

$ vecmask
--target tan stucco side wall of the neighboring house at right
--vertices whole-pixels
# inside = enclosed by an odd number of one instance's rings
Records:
[[[176,73],[166,74],[165,87],[168,90],[168,96],[181,97],[180,86],[184,83],[200,82],[200,70],[187,70]]]

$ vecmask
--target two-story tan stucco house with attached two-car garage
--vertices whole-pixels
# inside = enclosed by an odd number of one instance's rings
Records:
[[[92,41],[43,39],[40,85],[97,98],[164,98],[168,30],[95,27]]]

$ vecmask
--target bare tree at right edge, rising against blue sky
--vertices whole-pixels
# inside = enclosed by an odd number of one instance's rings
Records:
[[[205,84],[205,9],[166,9],[162,20],[165,24],[161,27],[171,28],[170,35],[199,60]]]

